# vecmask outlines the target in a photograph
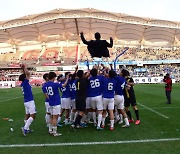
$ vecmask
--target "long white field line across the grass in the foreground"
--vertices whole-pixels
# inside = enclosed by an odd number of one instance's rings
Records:
[[[10,144],[0,145],[0,148],[15,148],[15,147],[52,147],[52,146],[76,146],[76,145],[107,145],[107,144],[130,144],[130,143],[150,143],[150,142],[167,142],[180,141],[180,138],[166,139],[146,139],[146,140],[129,140],[129,141],[105,141],[105,142],[71,142],[71,143],[50,143],[50,144]]]

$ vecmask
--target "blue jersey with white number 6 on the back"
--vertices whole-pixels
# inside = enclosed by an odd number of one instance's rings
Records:
[[[117,81],[113,78],[103,79],[103,98],[114,98]]]

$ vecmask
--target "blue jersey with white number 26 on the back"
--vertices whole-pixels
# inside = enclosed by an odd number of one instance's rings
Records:
[[[103,76],[99,76],[99,75],[96,77],[91,76],[89,78],[90,97],[96,97],[96,96],[102,95],[102,80],[103,80]]]

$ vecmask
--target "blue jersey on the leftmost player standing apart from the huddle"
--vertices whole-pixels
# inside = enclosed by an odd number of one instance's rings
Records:
[[[22,92],[24,95],[24,103],[34,100],[33,94],[32,94],[32,87],[29,84],[29,80],[25,79],[21,83]]]

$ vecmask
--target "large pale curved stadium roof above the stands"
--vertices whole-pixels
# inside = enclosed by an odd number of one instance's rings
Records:
[[[113,37],[115,44],[179,46],[180,23],[105,12],[92,8],[55,9],[0,22],[0,48],[43,45],[50,42],[80,43],[100,32],[102,39]]]

